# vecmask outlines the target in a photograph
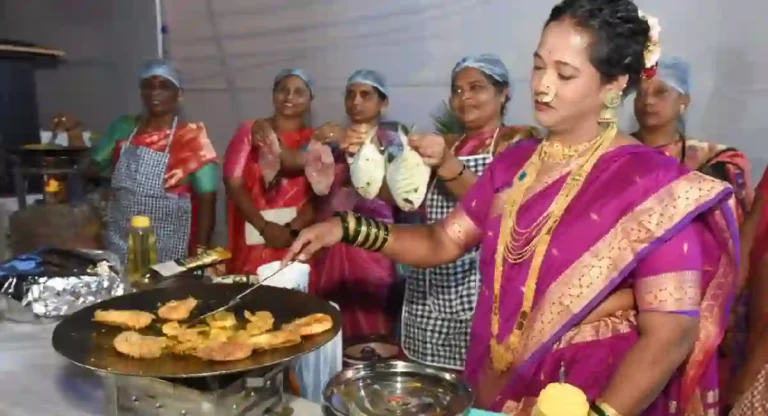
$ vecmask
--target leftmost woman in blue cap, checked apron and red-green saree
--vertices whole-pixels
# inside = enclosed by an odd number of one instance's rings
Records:
[[[216,152],[202,123],[179,121],[181,81],[171,63],[150,62],[140,89],[146,114],[129,137],[112,143],[117,162],[107,248],[124,262],[129,222],[146,215],[157,235],[157,260],[184,258],[210,243],[219,184]],[[105,146],[94,150],[109,154]]]

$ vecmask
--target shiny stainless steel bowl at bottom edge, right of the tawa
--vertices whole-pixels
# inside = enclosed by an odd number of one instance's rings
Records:
[[[327,415],[467,415],[474,395],[456,374],[403,361],[347,368],[323,390]]]

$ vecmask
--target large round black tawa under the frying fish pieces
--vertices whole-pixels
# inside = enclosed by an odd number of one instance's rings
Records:
[[[333,328],[318,335],[304,337],[302,342],[286,348],[254,351],[247,359],[231,362],[205,361],[197,357],[166,353],[156,359],[134,359],[122,355],[112,345],[124,329],[93,321],[97,309],[134,309],[156,314],[160,305],[192,296],[199,302],[191,316],[226,305],[249,287],[247,284],[202,284],[134,292],[108,299],[83,308],[61,321],[53,331],[53,348],[77,365],[97,371],[129,376],[158,378],[208,377],[248,371],[271,366],[311,352],[331,341],[341,329],[341,314],[328,302],[289,289],[262,286],[254,290],[233,312],[238,322],[246,322],[243,311],[269,311],[275,317],[275,328],[313,313],[333,318]],[[166,321],[155,320],[138,332],[162,335],[160,327]]]

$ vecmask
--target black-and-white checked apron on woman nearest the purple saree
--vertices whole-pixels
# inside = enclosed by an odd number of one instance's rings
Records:
[[[498,133],[496,130],[487,153],[459,160],[481,175],[493,160]],[[445,185],[435,180],[426,197],[427,222],[445,218],[456,204]],[[453,263],[412,269],[405,284],[401,328],[403,352],[409,358],[427,365],[464,369],[480,283],[477,254],[474,248]]]

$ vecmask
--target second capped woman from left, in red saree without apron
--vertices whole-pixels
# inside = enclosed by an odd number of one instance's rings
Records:
[[[281,71],[272,89],[274,115],[241,124],[227,146],[229,273],[256,274],[259,266],[280,260],[298,230],[313,220],[306,178],[278,174],[276,153],[307,145],[313,130],[304,120],[311,101],[309,76],[300,69]]]

